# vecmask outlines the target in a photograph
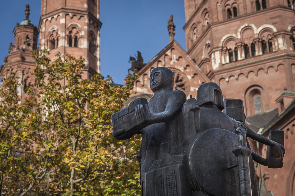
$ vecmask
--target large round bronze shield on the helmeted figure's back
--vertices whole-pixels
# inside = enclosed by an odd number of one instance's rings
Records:
[[[239,196],[237,157],[232,149],[238,146],[235,133],[224,129],[209,129],[200,133],[189,152],[189,169],[196,189],[215,196]],[[250,158],[251,157],[251,158]],[[255,173],[250,155],[251,187]],[[251,169],[253,167],[253,169]],[[252,170],[252,171],[251,171]]]

